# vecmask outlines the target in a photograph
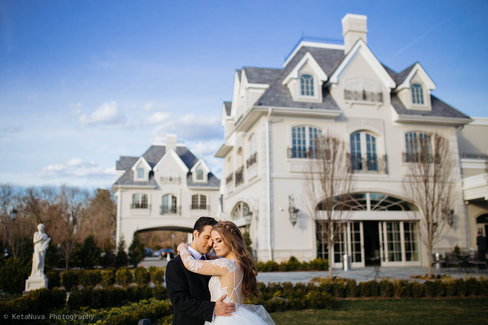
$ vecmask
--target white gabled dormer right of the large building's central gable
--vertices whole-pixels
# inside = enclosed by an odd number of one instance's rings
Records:
[[[431,111],[430,92],[435,83],[419,62],[400,72],[395,93],[408,110]]]

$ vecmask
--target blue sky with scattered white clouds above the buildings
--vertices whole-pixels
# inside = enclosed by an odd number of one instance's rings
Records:
[[[208,162],[223,142],[234,70],[282,67],[301,37],[342,38],[368,17],[368,46],[433,92],[487,116],[487,1],[0,0],[0,182],[107,187],[121,155],[167,133]]]

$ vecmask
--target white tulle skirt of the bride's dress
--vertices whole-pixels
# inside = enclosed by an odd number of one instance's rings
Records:
[[[259,305],[240,305],[232,316],[215,316],[212,323],[205,325],[275,325],[266,309]]]

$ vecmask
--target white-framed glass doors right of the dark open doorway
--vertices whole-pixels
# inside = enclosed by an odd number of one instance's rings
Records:
[[[420,266],[416,222],[381,221],[378,227],[382,266]]]

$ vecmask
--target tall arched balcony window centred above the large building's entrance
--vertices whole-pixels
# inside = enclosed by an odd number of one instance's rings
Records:
[[[353,171],[378,171],[376,137],[364,131],[351,134],[351,169]],[[361,148],[366,149],[362,155]]]

